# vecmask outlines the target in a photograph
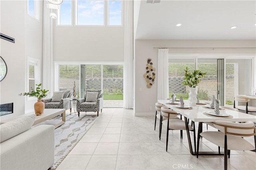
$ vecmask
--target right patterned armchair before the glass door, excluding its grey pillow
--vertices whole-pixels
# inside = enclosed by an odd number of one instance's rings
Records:
[[[96,102],[86,102],[87,92],[98,92]],[[80,112],[97,112],[97,116],[99,116],[99,111],[102,112],[103,108],[103,94],[101,90],[86,90],[84,94],[84,98],[77,99],[76,101],[76,109],[78,112],[78,116]]]

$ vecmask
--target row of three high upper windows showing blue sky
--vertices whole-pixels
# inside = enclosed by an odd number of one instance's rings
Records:
[[[58,25],[122,26],[122,1],[64,0]]]

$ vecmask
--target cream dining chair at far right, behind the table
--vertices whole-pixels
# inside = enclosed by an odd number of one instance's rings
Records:
[[[245,103],[245,105],[237,105],[236,106],[236,101],[238,102],[242,102]],[[247,99],[244,96],[241,95],[235,95],[234,96],[234,108],[240,110],[240,111],[244,111],[245,113],[248,114],[248,112],[256,112],[256,107],[254,106],[248,106],[248,101],[250,101],[250,99]],[[238,103],[239,104],[239,103]]]

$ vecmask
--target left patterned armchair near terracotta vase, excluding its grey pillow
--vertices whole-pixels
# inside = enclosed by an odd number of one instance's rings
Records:
[[[70,99],[71,99],[71,92],[70,90],[64,91],[63,98],[60,100],[60,102],[52,102],[52,98],[44,99],[45,109],[65,109],[68,110],[71,108],[70,105]]]

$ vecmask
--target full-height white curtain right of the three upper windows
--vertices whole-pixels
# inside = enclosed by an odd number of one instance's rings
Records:
[[[133,108],[133,1],[124,2],[124,108]]]

